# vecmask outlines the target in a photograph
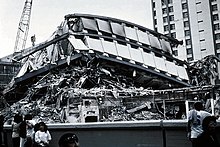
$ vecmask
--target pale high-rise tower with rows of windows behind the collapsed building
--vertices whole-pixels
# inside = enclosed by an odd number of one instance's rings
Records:
[[[179,59],[220,57],[220,0],[152,0],[152,11],[155,31],[183,40]]]

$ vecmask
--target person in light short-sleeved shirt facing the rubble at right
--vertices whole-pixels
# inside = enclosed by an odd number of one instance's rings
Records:
[[[203,109],[202,102],[195,102],[194,109],[190,110],[188,114],[187,137],[192,142],[192,147],[196,147],[197,137],[203,132],[203,119],[207,116],[211,116],[210,113]]]

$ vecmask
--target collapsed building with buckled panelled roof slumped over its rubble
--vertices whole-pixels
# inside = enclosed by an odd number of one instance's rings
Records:
[[[173,56],[179,44],[131,22],[66,15],[49,40],[13,57],[23,66],[3,91],[2,114],[48,123],[185,118],[186,99],[213,97],[215,86],[189,88],[187,63]]]

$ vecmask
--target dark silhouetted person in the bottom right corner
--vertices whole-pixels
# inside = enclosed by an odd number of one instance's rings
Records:
[[[216,117],[207,116],[202,123],[203,132],[196,141],[196,147],[220,147],[215,132]]]

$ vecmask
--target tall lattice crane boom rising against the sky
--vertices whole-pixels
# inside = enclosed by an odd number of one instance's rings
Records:
[[[32,0],[26,0],[19,21],[16,41],[14,46],[14,53],[19,52],[25,48],[28,30],[29,30],[29,24],[30,24],[31,7],[32,7]]]

